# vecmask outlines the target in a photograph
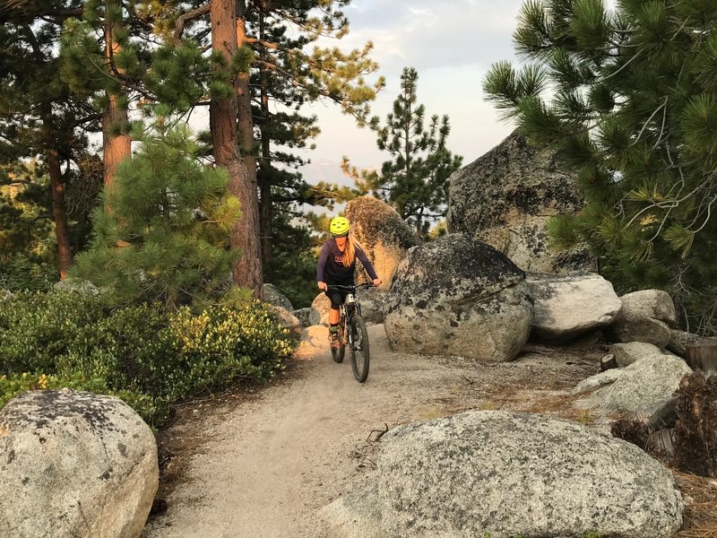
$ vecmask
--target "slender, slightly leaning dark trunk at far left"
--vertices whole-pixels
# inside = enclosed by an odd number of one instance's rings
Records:
[[[60,169],[60,157],[57,151],[55,126],[52,120],[52,108],[49,103],[42,105],[42,130],[45,138],[45,158],[48,161],[50,192],[52,193],[52,214],[55,219],[57,256],[60,262],[60,279],[67,278],[67,272],[73,264],[70,251],[70,238],[67,233],[67,213],[65,211],[65,182]]]

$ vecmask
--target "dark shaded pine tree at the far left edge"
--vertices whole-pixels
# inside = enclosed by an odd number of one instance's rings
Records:
[[[0,164],[13,169],[17,161],[41,156],[38,165],[47,175],[50,196],[35,202],[48,203],[61,278],[72,264],[73,222],[65,190],[81,176],[87,147],[82,130],[97,123],[91,108],[73,99],[58,76],[59,32],[67,17],[82,13],[81,6],[78,0],[5,3],[0,30]],[[34,182],[26,198],[41,194],[37,186]]]

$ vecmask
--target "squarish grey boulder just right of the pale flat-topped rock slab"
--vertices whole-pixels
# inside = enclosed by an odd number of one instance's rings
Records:
[[[666,291],[642,290],[620,297],[622,309],[611,333],[621,343],[646,342],[664,349],[677,324],[675,305]]]

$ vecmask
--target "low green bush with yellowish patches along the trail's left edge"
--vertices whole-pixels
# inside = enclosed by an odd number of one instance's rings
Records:
[[[67,386],[117,395],[157,426],[173,402],[238,378],[271,378],[294,345],[259,302],[194,314],[18,293],[0,301],[0,407],[24,390]]]

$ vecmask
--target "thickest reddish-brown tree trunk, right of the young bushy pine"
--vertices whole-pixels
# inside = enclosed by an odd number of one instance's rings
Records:
[[[241,4],[244,13],[244,4]],[[244,20],[237,18],[235,0],[212,0],[212,48],[226,56],[229,63],[237,52],[239,42],[244,42]],[[238,29],[241,28],[241,41]],[[256,187],[256,160],[247,155],[240,158],[237,147],[237,118],[248,121],[249,141],[242,135],[242,147],[251,148],[254,142],[253,122],[248,93],[248,74],[240,75],[235,81],[236,96],[242,101],[238,106],[237,97],[212,100],[209,107],[209,126],[214,145],[217,165],[229,170],[229,191],[236,195],[241,204],[241,218],[231,233],[231,247],[240,248],[242,256],[232,266],[234,282],[254,291],[256,297],[262,293],[262,258],[259,247],[259,204]],[[248,117],[247,117],[248,112]]]

